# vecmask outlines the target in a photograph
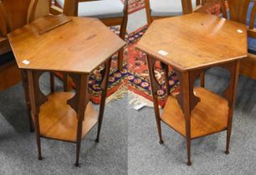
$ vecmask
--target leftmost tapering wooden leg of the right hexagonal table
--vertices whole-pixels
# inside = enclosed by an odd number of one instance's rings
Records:
[[[155,116],[156,116],[156,125],[157,125],[157,131],[159,136],[159,143],[162,144],[163,140],[161,137],[161,118],[160,118],[160,112],[159,112],[159,105],[157,100],[157,89],[160,88],[159,83],[156,80],[155,72],[154,72],[154,66],[155,66],[155,60],[150,57],[149,55],[146,58],[148,71],[150,74],[150,81],[151,81],[151,92],[154,102],[154,109],[155,109]]]

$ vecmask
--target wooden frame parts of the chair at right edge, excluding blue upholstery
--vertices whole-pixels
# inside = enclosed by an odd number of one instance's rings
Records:
[[[227,9],[224,5],[225,1],[221,0],[222,2],[222,12],[223,17],[227,18]],[[230,19],[239,23],[246,23],[247,14],[248,14],[248,5],[252,2],[251,0],[242,0],[242,1],[236,1],[236,0],[228,0],[228,12],[230,13]],[[254,2],[253,9],[251,13],[251,17],[249,20],[249,26],[248,26],[248,37],[256,38],[256,30],[254,28],[254,19],[255,19],[255,13],[256,13],[256,5]],[[256,79],[256,57],[253,54],[248,54],[248,58],[244,59],[243,62],[241,62],[241,68],[240,72],[248,77],[252,77]]]

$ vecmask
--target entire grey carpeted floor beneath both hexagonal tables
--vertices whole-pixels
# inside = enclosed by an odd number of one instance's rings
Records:
[[[144,14],[141,10],[130,15],[129,30],[144,25]],[[49,89],[46,78],[41,79],[44,91]],[[207,72],[207,88],[222,92],[227,86],[228,74],[222,69]],[[0,92],[0,174],[255,174],[255,91],[256,81],[239,78],[229,155],[223,153],[226,133],[196,139],[192,167],[187,167],[185,139],[162,124],[165,143],[160,145],[153,108],[136,111],[125,97],[107,104],[100,143],[94,142],[94,128],[82,142],[81,168],[74,168],[73,143],[42,138],[44,160],[38,161],[34,133],[28,132],[23,88],[18,84]]]

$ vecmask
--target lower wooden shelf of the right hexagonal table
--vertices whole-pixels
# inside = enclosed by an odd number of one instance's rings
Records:
[[[228,128],[228,101],[202,87],[194,88],[201,102],[191,112],[191,138],[200,138]],[[185,117],[175,97],[168,97],[161,121],[186,137]]]

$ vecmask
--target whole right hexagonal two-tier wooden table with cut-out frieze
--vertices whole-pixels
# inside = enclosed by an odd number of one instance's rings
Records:
[[[162,121],[187,138],[187,165],[191,165],[191,140],[194,138],[227,130],[225,153],[229,153],[239,61],[247,57],[246,31],[243,24],[210,14],[192,13],[154,21],[137,45],[147,53],[160,143],[163,143]],[[167,65],[173,67],[181,87],[177,97],[169,94],[161,116],[156,97],[160,85],[154,75],[156,60],[162,62],[165,72],[168,72]],[[197,77],[201,75],[203,85],[202,73],[215,66],[228,69],[230,73],[229,86],[223,96],[203,86],[194,87]],[[169,93],[168,86],[166,91]]]

